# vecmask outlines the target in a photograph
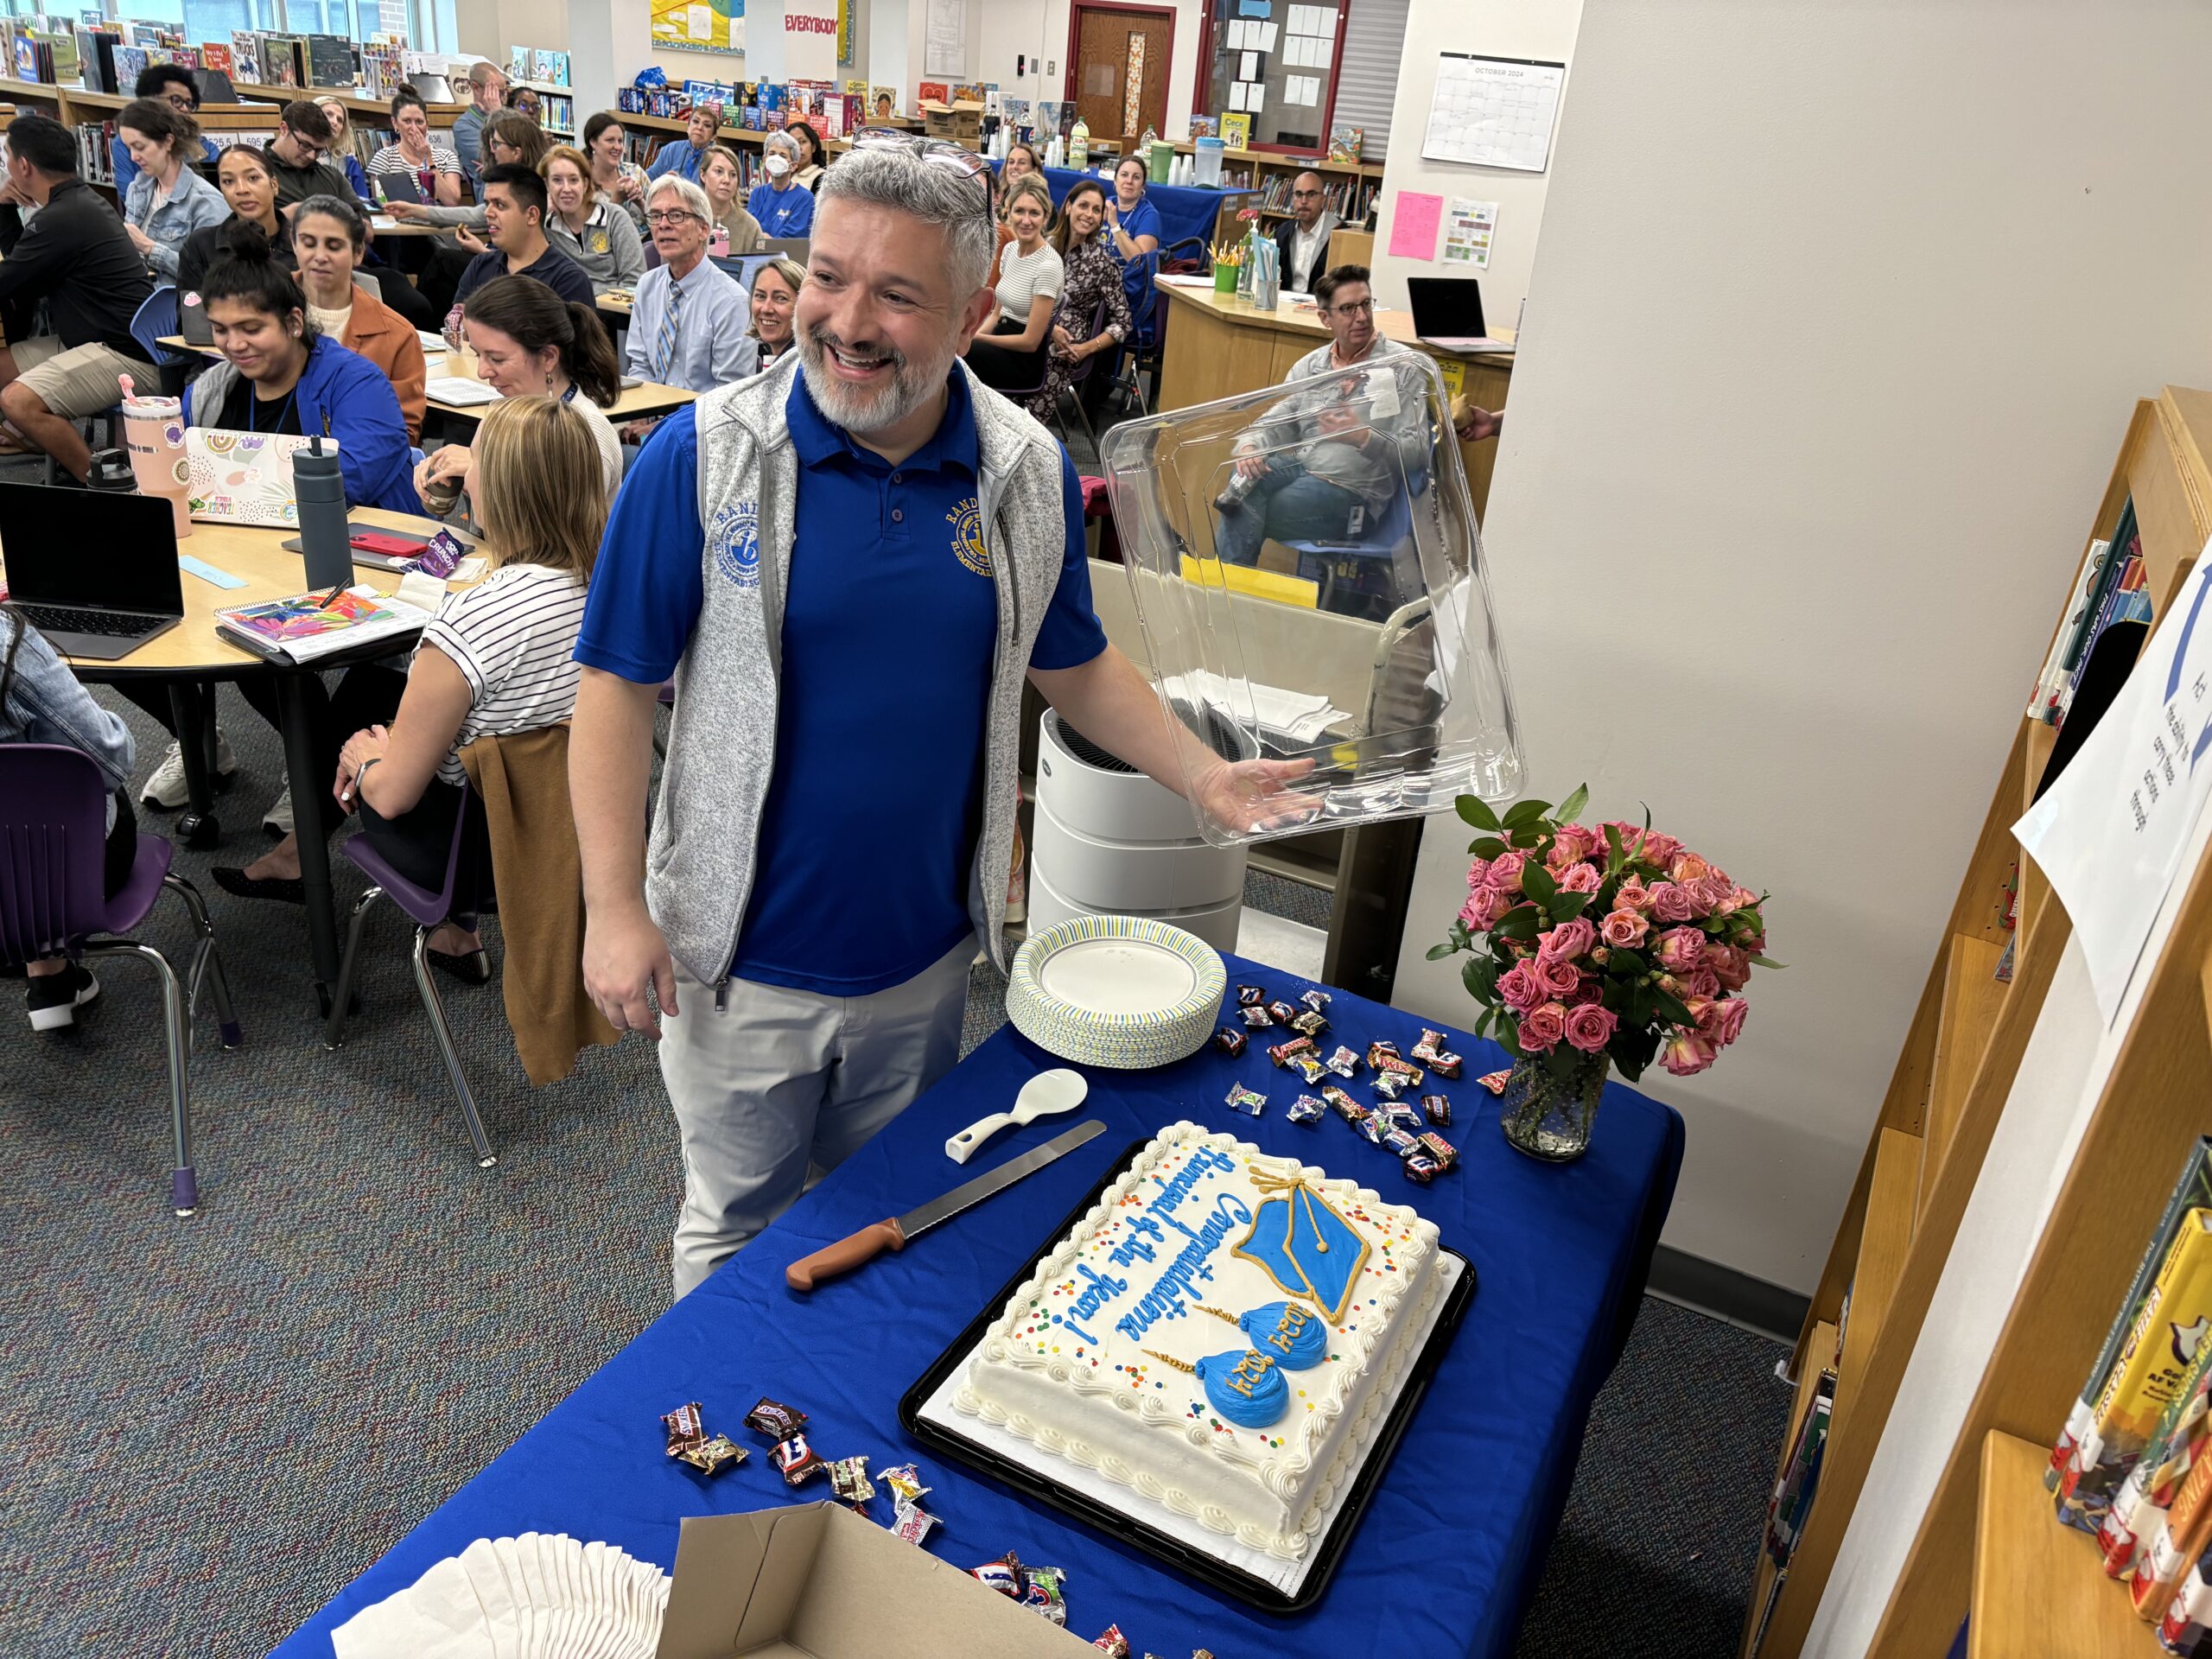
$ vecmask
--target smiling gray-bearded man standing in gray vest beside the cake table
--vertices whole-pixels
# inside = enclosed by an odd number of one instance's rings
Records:
[[[1106,644],[1066,451],[960,361],[995,241],[973,155],[863,133],[821,184],[796,349],[661,425],[599,551],[584,984],[661,1040],[679,1296],[958,1057],[978,936],[1006,962],[1024,677],[1179,792],[1188,752],[1225,823],[1310,805],[1298,765],[1170,728]]]

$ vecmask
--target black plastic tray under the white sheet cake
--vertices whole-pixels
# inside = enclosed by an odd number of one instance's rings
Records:
[[[982,1305],[982,1312],[969,1321],[951,1345],[929,1365],[927,1371],[916,1380],[911,1389],[898,1400],[898,1427],[907,1436],[929,1451],[962,1462],[969,1469],[978,1469],[993,1480],[1013,1486],[1026,1498],[1035,1498],[1042,1504],[1051,1504],[1062,1515],[1073,1515],[1086,1526],[1095,1526],[1106,1533],[1117,1544],[1135,1544],[1146,1555],[1152,1555],[1177,1573],[1183,1573],[1201,1584],[1210,1584],[1223,1595],[1232,1595],[1245,1606],[1259,1608],[1261,1613],[1305,1613],[1329,1588],[1329,1579],[1336,1577],[1336,1568],[1345,1559],[1345,1551],[1352,1546],[1352,1535],[1358,1531],[1360,1517],[1367,1513],[1367,1502],[1374,1498],[1376,1489],[1383,1484],[1383,1471],[1389,1469],[1391,1453],[1398,1451],[1398,1440],[1405,1438],[1407,1425],[1413,1420],[1413,1411],[1420,1409],[1422,1396],[1429,1391],[1429,1378],[1436,1376],[1436,1367],[1444,1358],[1444,1349],[1451,1347],[1451,1338],[1460,1329],[1460,1321],[1467,1318],[1467,1305],[1475,1298],[1475,1265],[1467,1261],[1458,1250],[1440,1248],[1440,1254],[1453,1256],[1460,1263],[1460,1276],[1444,1292],[1444,1305],[1438,1314],[1436,1329],[1429,1332],[1429,1340],[1422,1343],[1420,1354],[1407,1369],[1405,1387],[1391,1402],[1389,1416],[1383,1420],[1383,1431],[1376,1436],[1374,1444],[1367,1449],[1367,1460],[1360,1464],[1358,1475],[1352,1480],[1352,1491],[1345,1498],[1343,1509],[1323,1533],[1321,1542],[1314,1546],[1314,1555],[1298,1582],[1296,1590],[1283,1590],[1267,1579],[1245,1573],[1239,1566],[1230,1566],[1217,1555],[1186,1544],[1172,1537],[1146,1520],[1137,1517],[1126,1509],[1079,1493],[1062,1482],[1053,1480],[1048,1473],[1029,1467],[1002,1451],[982,1447],[967,1436],[945,1427],[942,1422],[929,1422],[922,1418],[922,1405],[929,1402],[945,1380],[975,1352],[982,1343],[984,1332],[991,1321],[1006,1305],[1006,1301],[1018,1292],[1029,1276],[1044,1261],[1044,1254],[1091,1212],[1108,1186],[1119,1181],[1128,1166],[1135,1164],[1137,1155],[1150,1146],[1150,1139],[1130,1141],[1128,1150],[1115,1161],[1115,1166],[1091,1188],[1066,1219],[1044,1234],[1044,1243],[1033,1256],[1029,1256],[1013,1276]],[[1141,1502],[1141,1500],[1139,1500]]]

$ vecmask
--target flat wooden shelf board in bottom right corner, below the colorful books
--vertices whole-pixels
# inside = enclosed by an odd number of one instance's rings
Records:
[[[2159,1644],[2128,1590],[2104,1575],[2097,1540],[2059,1524],[2044,1491],[2051,1447],[1982,1438],[1973,1517],[1966,1659],[2150,1659]],[[2057,1632],[2066,1632],[2064,1639]]]

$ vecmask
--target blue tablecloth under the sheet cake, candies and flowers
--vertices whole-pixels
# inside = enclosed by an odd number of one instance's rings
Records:
[[[1239,980],[1276,995],[1305,989],[1287,973],[1230,958],[1230,982]],[[1420,1024],[1343,991],[1332,1013],[1332,1035],[1354,1046],[1371,1037],[1411,1046]],[[763,1394],[812,1413],[810,1440],[825,1458],[865,1453],[874,1469],[918,1458],[931,1486],[925,1506],[945,1520],[929,1548],[947,1562],[973,1566],[1015,1551],[1024,1562],[1068,1568],[1068,1626],[1084,1639],[1119,1624],[1137,1652],[1159,1655],[1197,1646],[1232,1659],[1509,1655],[1566,1502],[1584,1418],[1635,1318],[1683,1128],[1668,1106],[1615,1084],[1588,1157],[1564,1168],[1535,1164],[1504,1144],[1498,1102],[1473,1082],[1502,1064],[1498,1048],[1462,1037],[1460,1051],[1467,1077],[1449,1086],[1455,1126],[1447,1135],[1464,1161],[1429,1188],[1405,1181],[1387,1150],[1334,1117],[1290,1124],[1283,1106],[1298,1091],[1259,1044],[1234,1062],[1208,1046],[1164,1071],[1091,1071],[1091,1097],[1077,1113],[1000,1135],[975,1168],[1086,1117],[1102,1117],[1106,1135],[902,1254],[880,1256],[812,1298],[787,1292],[790,1261],[967,1179],[945,1157],[945,1139],[1009,1106],[1035,1071],[1060,1064],[1011,1026],[1000,1031],[307,1619],[279,1655],[327,1659],[332,1626],[478,1537],[571,1533],[666,1568],[684,1515],[823,1495],[818,1480],[785,1491],[765,1444],[743,1427]],[[1232,1082],[1270,1095],[1261,1119],[1221,1104]],[[1409,1201],[1480,1276],[1467,1323],[1336,1582],[1321,1606],[1292,1619],[1254,1613],[920,1453],[898,1429],[898,1396],[1048,1241],[1066,1210],[1133,1139],[1183,1117]],[[752,1458],[714,1480],[670,1460],[659,1416],[684,1400],[701,1400],[708,1427],[750,1444]],[[889,1498],[872,1509],[887,1520]]]

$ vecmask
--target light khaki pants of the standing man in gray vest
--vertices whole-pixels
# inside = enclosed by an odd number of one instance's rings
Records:
[[[781,984],[714,987],[677,967],[661,1079],[684,1135],[675,1292],[688,1296],[960,1057],[975,940],[905,984],[832,998]]]

